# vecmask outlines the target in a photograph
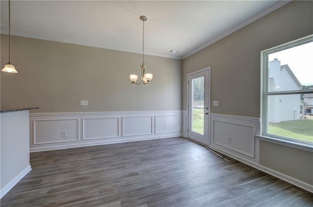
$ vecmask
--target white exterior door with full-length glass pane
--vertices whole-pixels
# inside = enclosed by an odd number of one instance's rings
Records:
[[[188,74],[188,138],[209,145],[210,68]]]

